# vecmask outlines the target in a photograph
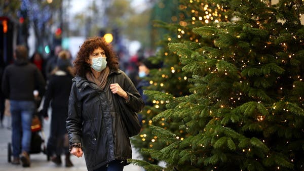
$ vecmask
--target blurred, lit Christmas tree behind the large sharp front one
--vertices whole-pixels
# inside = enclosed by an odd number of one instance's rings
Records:
[[[176,3],[178,2],[178,3]],[[163,34],[163,40],[157,42],[157,46],[160,47],[156,56],[149,57],[148,60],[153,64],[163,64],[159,65],[158,69],[151,69],[148,77],[143,79],[149,81],[150,86],[144,88],[145,90],[162,90],[164,93],[171,94],[174,97],[185,96],[189,94],[189,89],[193,87],[193,84],[188,83],[188,78],[191,77],[189,73],[182,73],[181,68],[184,66],[180,63],[179,57],[175,52],[171,52],[168,49],[169,42],[181,42],[183,39],[188,39],[189,41],[198,41],[198,35],[193,33],[191,30],[198,25],[202,25],[209,21],[221,21],[226,20],[224,16],[216,15],[213,17],[204,17],[205,19],[193,20],[193,17],[199,17],[206,12],[213,12],[213,14],[218,14],[221,8],[218,8],[214,4],[208,5],[202,2],[194,2],[192,4],[187,4],[188,1],[174,1],[170,3],[169,1],[159,1],[156,7],[166,9],[166,15],[153,15],[158,16],[159,20],[154,20],[155,30],[162,28],[165,31],[155,31],[155,32],[165,32]],[[169,7],[167,7],[167,5]],[[175,5],[173,8],[172,6]],[[155,7],[155,8],[156,8]],[[171,9],[172,14],[169,15],[168,9]],[[177,10],[178,9],[178,10]],[[160,12],[160,9],[155,10],[156,13]],[[212,14],[212,13],[210,13]],[[172,22],[166,23],[169,19]],[[182,29],[180,26],[183,26]],[[166,101],[158,101],[155,99],[150,99],[153,105],[146,105],[142,112],[139,114],[143,116],[142,120],[142,131],[141,133],[132,138],[132,145],[138,150],[145,161],[157,164],[158,160],[151,158],[150,154],[142,153],[141,148],[149,148],[160,150],[166,146],[165,142],[159,141],[158,136],[151,134],[150,125],[157,125],[165,130],[170,130],[175,135],[179,137],[185,137],[188,133],[179,129],[179,125],[182,124],[181,121],[173,121],[170,117],[163,117],[158,121],[153,121],[152,118],[156,116],[161,111],[165,110]]]

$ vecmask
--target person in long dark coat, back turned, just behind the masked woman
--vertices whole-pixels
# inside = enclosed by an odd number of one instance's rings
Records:
[[[58,55],[55,69],[51,72],[48,88],[45,95],[42,113],[48,119],[48,108],[51,102],[52,117],[51,130],[47,151],[51,161],[60,165],[61,154],[65,154],[65,166],[73,166],[68,151],[67,131],[65,120],[68,112],[68,98],[72,86],[73,72],[69,65],[67,51],[61,51]]]

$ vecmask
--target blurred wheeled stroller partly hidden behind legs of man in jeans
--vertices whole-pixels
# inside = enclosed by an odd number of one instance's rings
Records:
[[[50,156],[47,153],[47,148],[45,145],[45,134],[43,131],[43,126],[41,122],[41,117],[34,115],[31,124],[31,142],[30,142],[30,152],[29,154],[38,154],[43,152],[47,155],[47,160],[50,160]],[[8,143],[8,162],[12,161],[13,149],[12,144]]]

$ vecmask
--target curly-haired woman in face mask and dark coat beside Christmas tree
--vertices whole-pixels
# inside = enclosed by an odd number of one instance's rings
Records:
[[[131,79],[104,38],[87,39],[74,61],[66,127],[70,153],[82,157],[88,170],[123,170],[132,158],[121,105],[134,112],[144,106]]]

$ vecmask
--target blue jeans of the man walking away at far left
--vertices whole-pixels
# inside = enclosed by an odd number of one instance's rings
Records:
[[[10,100],[12,115],[13,156],[19,157],[22,151],[29,153],[31,141],[31,122],[36,110],[34,101]]]

